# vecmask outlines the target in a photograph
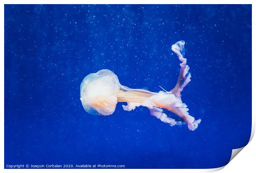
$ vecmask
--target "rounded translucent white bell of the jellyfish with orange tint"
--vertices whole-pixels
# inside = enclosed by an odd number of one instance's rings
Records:
[[[111,115],[116,109],[119,88],[118,77],[108,69],[85,76],[80,86],[83,108],[92,115]]]

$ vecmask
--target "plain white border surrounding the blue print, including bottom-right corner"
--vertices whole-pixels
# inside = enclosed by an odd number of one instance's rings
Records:
[[[2,5],[0,6],[0,28],[1,28],[1,34],[0,34],[0,52],[1,52],[1,58],[0,58],[0,67],[1,67],[1,75],[0,75],[0,81],[2,81],[1,85],[1,100],[0,100],[0,106],[1,106],[1,115],[2,118],[0,120],[0,171],[19,171],[19,172],[141,172],[141,171],[147,171],[147,172],[153,172],[153,171],[161,171],[161,172],[213,172],[218,171],[225,166],[221,168],[214,168],[214,169],[4,169],[4,4],[252,4],[252,28],[255,30],[255,3],[253,0],[2,0]],[[252,30],[252,57],[255,58],[255,32]],[[249,57],[250,58],[250,57]],[[252,58],[252,88],[256,88],[256,69],[255,69],[255,59]],[[251,138],[254,136],[255,131],[255,121],[256,121],[256,93],[254,90],[252,90],[252,131],[251,131]],[[254,172],[253,170],[256,170],[255,168],[255,158],[256,155],[256,142],[255,140],[249,143],[249,146],[245,147],[243,149],[244,152],[239,154],[240,156],[233,159],[234,161],[231,161],[228,166],[226,166],[225,169],[221,170],[221,172],[232,172],[232,171],[245,171],[245,172]]]

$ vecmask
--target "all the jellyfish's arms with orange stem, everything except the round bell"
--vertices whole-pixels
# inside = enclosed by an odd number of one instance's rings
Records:
[[[187,123],[190,130],[197,129],[201,119],[195,120],[194,117],[189,115],[189,109],[187,108],[187,105],[182,102],[180,94],[183,88],[191,81],[191,75],[188,72],[189,66],[187,65],[187,59],[183,58],[185,50],[184,45],[184,41],[179,41],[173,44],[171,47],[181,61],[180,74],[175,87],[170,92],[145,93],[145,91],[140,92],[139,90],[133,90],[123,86],[124,92],[119,92],[121,97],[119,97],[118,94],[117,100],[121,102],[128,102],[127,106],[123,105],[124,110],[131,111],[137,106],[145,106],[149,108],[151,115],[160,119],[162,122],[166,122],[171,126],[182,124],[182,122],[177,122],[173,118],[170,118],[163,113],[163,109],[161,108],[164,108],[182,118],[184,122]]]

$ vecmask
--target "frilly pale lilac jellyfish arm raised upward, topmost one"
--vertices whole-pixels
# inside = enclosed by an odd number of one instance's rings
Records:
[[[188,72],[190,67],[187,65],[187,59],[183,58],[184,51],[185,51],[184,45],[185,45],[185,42],[182,40],[182,41],[176,42],[175,44],[173,44],[171,46],[171,49],[173,50],[173,52],[176,53],[179,60],[181,61],[180,74],[178,77],[178,81],[177,81],[175,87],[170,91],[170,92],[173,92],[173,94],[176,97],[181,97],[180,92],[191,81],[191,79],[190,79],[191,74]]]

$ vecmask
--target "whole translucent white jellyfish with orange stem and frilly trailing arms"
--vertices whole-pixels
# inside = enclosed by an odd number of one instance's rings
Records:
[[[119,83],[119,79],[109,69],[102,69],[85,76],[80,86],[80,95],[83,108],[92,115],[111,115],[118,102],[127,102],[123,105],[125,111],[132,111],[138,106],[149,109],[151,115],[171,126],[187,124],[188,129],[197,129],[201,119],[195,120],[189,115],[188,108],[181,100],[183,88],[190,82],[187,59],[184,58],[185,42],[178,41],[171,46],[172,51],[180,60],[180,73],[175,87],[166,91],[151,92],[145,89],[132,89]],[[179,119],[168,116],[164,110],[178,115]]]

